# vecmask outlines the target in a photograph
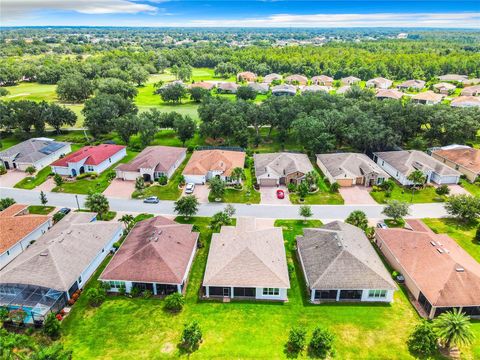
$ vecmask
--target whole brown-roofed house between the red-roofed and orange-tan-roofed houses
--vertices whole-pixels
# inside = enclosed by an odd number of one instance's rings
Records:
[[[148,146],[132,161],[115,168],[117,179],[135,180],[143,176],[145,181],[160,176],[170,179],[187,156],[187,149],[173,146]]]

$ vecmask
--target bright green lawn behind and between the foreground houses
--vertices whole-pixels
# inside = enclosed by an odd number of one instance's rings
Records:
[[[182,219],[177,219],[182,221]],[[224,304],[203,301],[198,291],[211,237],[209,218],[193,218],[206,246],[198,250],[187,287],[186,304],[179,314],[163,310],[158,299],[108,297],[99,308],[90,308],[85,296],[74,305],[62,325],[62,342],[73,350],[74,359],[163,359],[179,357],[177,348],[183,324],[198,320],[203,342],[192,359],[282,359],[288,329],[305,327],[310,337],[316,325],[331,329],[335,335],[338,359],[412,359],[406,347],[408,334],[418,316],[402,291],[395,294],[392,305],[325,304],[310,305],[304,297],[300,269],[291,274],[287,303],[239,301]],[[296,263],[294,238],[301,233],[302,221],[276,222],[282,226],[289,262]],[[320,222],[308,222],[319,226]],[[103,267],[94,277],[98,277]],[[93,283],[87,286],[93,286]],[[473,325],[480,333],[480,323]],[[480,338],[475,353],[478,355]],[[301,354],[300,358],[306,358]]]

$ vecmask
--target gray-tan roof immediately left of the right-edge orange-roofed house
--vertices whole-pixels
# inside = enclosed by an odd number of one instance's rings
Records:
[[[439,175],[461,175],[458,171],[418,150],[384,151],[375,154],[406,176],[415,170],[432,170]]]

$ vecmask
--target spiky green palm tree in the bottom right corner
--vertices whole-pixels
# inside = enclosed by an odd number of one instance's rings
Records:
[[[452,346],[468,346],[473,342],[473,332],[470,329],[470,317],[453,309],[441,314],[433,321],[433,327],[440,342],[450,349]]]

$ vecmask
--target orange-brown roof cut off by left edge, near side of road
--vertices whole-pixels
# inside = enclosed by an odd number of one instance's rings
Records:
[[[0,254],[39,226],[50,221],[50,217],[46,215],[26,214],[27,207],[27,205],[14,204],[0,212]]]

